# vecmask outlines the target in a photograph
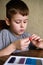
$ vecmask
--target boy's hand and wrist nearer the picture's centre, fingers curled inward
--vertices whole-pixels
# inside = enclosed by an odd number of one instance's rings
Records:
[[[14,42],[14,45],[16,47],[16,49],[18,50],[25,50],[28,45],[30,44],[30,40],[29,38],[25,38],[25,39],[20,39]]]

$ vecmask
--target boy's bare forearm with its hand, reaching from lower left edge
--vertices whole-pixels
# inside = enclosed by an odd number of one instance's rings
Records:
[[[30,44],[30,41],[28,38],[17,40],[13,43],[11,43],[9,46],[4,48],[3,50],[0,50],[0,56],[10,55],[15,50],[25,50],[26,47]]]

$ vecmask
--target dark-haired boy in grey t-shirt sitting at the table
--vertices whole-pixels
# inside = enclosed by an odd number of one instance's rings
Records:
[[[6,24],[9,29],[0,31],[0,56],[43,48],[39,36],[25,33],[29,9],[21,0],[11,0],[6,5]],[[31,36],[31,37],[30,37]]]

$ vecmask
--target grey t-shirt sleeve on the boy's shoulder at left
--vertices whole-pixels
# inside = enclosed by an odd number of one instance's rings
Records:
[[[8,31],[2,30],[0,31],[0,50],[8,46],[9,44],[9,37],[8,37]]]

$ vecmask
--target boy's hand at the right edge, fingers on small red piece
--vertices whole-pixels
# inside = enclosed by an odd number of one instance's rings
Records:
[[[43,39],[41,39],[39,36],[33,34],[30,37],[30,41],[38,48],[43,49]]]

